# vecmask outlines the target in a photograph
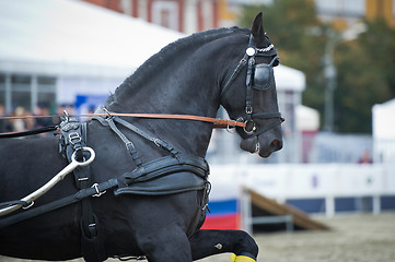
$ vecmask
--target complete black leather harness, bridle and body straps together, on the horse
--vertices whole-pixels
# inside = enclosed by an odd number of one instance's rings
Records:
[[[276,57],[269,64],[255,64],[255,56]],[[226,84],[222,88],[221,98],[223,99],[225,97],[226,91],[246,64],[246,115],[244,117],[240,117],[234,121],[226,122],[218,122],[218,119],[201,117],[200,119],[196,119],[195,117],[191,119],[190,116],[187,116],[188,119],[242,127],[248,136],[257,136],[267,130],[275,128],[277,124],[280,124],[283,121],[280,112],[254,112],[253,110],[253,88],[258,91],[267,91],[270,88],[275,84],[272,67],[278,64],[277,51],[274,49],[272,45],[267,48],[258,49],[253,43],[253,36],[249,37],[248,48],[246,49],[244,57],[239,62],[236,69],[233,71],[230,79],[226,81]],[[95,112],[95,117],[92,119],[98,121],[104,127],[108,127],[124,142],[127,152],[130,154],[131,159],[136,165],[133,170],[127,171],[118,178],[113,178],[101,183],[95,183],[91,176],[91,167],[88,164],[84,164],[86,158],[90,159],[90,162],[93,160],[92,157],[94,158],[93,150],[86,146],[86,123],[80,123],[77,118],[72,118],[67,115],[62,118],[62,122],[60,123],[61,138],[59,140],[59,153],[68,159],[70,165],[72,165],[72,169],[70,169],[71,167],[69,169],[74,174],[75,187],[79,189],[79,191],[74,194],[40,205],[36,209],[27,210],[22,213],[1,218],[0,228],[81,201],[82,217],[80,227],[82,255],[85,261],[89,262],[103,261],[107,259],[107,255],[103,249],[103,242],[97,226],[98,222],[93,213],[91,198],[89,196],[101,196],[106,192],[106,190],[109,189],[114,190],[115,195],[165,195],[201,190],[202,199],[200,203],[200,215],[196,218],[198,224],[197,228],[199,228],[206,217],[208,194],[210,192],[210,183],[207,180],[209,175],[209,166],[206,159],[193,155],[181,154],[176,148],[167,144],[165,141],[152,136],[146,131],[115,115],[121,114],[111,114],[105,108],[100,107]],[[160,118],[160,116],[161,115],[144,115],[140,117]],[[172,117],[172,115],[166,116],[166,118],[175,118],[174,116]],[[176,118],[179,118],[179,116],[177,115]],[[275,118],[278,120],[269,127],[257,131],[254,122],[255,118]],[[142,139],[148,140],[151,143],[154,143],[156,146],[167,151],[169,155],[143,163],[132,141],[130,141],[118,129],[117,126],[119,124],[124,128],[127,128],[128,130],[131,130]],[[1,203],[0,215],[1,211],[11,209],[15,210],[31,204],[33,204],[33,202],[27,200],[25,201],[24,199]],[[196,228],[193,230],[195,229]],[[193,231],[190,231],[189,235]]]

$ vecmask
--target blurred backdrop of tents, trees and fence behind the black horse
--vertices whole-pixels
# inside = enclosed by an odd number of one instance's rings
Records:
[[[328,217],[395,210],[394,0],[2,0],[0,115],[91,112],[162,47],[258,12],[280,56],[284,147],[263,159],[213,131],[214,227],[251,229],[245,188]]]

